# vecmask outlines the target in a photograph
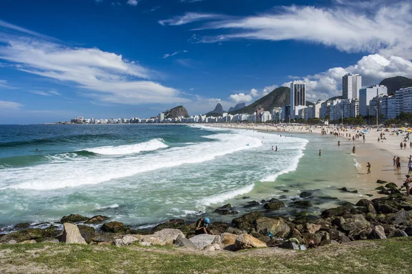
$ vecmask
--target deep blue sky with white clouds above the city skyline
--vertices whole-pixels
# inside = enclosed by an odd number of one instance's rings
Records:
[[[412,77],[409,1],[1,0],[0,123],[203,114]]]

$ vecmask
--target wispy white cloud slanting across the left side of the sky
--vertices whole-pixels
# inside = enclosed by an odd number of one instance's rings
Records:
[[[1,34],[0,28],[0,60],[13,64],[19,71],[75,86],[97,101],[133,105],[187,102],[179,90],[151,80],[159,73],[122,55],[22,37],[21,32],[16,36]]]

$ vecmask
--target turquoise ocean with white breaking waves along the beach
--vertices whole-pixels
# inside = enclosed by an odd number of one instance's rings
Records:
[[[358,164],[336,142],[201,125],[0,125],[0,228],[68,214],[135,228],[205,214],[229,221],[213,211],[231,203],[244,214],[257,209],[244,208],[249,201],[272,197],[286,203],[274,214],[293,214],[301,191],[314,193],[310,211],[320,212],[370,191],[338,190],[354,185]]]

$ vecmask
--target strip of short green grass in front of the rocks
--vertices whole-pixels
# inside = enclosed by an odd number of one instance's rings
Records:
[[[412,273],[411,254],[407,237],[236,253],[38,243],[0,245],[0,273]]]

